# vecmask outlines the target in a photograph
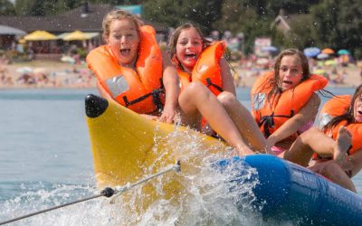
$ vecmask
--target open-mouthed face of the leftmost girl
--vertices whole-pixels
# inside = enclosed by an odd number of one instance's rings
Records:
[[[113,20],[110,22],[110,35],[107,43],[119,64],[133,66],[138,57],[140,38],[136,25],[130,19]]]

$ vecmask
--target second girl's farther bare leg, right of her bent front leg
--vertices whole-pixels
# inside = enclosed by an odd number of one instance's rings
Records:
[[[254,118],[252,118],[250,111],[245,108],[231,92],[224,91],[217,99],[224,105],[224,108],[233,119],[233,123],[247,144],[252,146],[254,151],[264,152],[265,137],[262,135]]]

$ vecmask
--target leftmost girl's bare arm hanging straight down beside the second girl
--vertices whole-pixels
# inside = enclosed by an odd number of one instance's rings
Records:
[[[180,92],[176,68],[172,65],[168,55],[163,54],[163,83],[166,93],[165,107],[159,120],[172,123],[176,116],[177,99]]]

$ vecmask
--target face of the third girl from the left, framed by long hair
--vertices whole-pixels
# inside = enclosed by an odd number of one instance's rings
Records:
[[[300,58],[298,56],[283,56],[279,69],[279,82],[281,90],[295,88],[303,78]]]

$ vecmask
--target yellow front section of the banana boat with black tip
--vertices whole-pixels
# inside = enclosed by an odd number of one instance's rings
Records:
[[[135,183],[149,174],[175,165],[178,160],[183,162],[184,157],[187,157],[187,161],[181,163],[181,167],[183,174],[187,174],[195,170],[195,161],[200,161],[197,156],[201,157],[201,153],[203,156],[215,154],[226,147],[220,140],[186,127],[175,127],[144,118],[112,99],[90,94],[85,101],[99,188]],[[181,133],[183,136],[180,136]],[[184,142],[189,140],[186,141],[185,137],[194,138],[194,146],[186,147]],[[197,150],[200,153],[192,159],[190,155],[184,155]],[[179,189],[179,185],[171,181],[164,185],[163,190],[175,192]],[[166,195],[172,196],[171,193]]]

